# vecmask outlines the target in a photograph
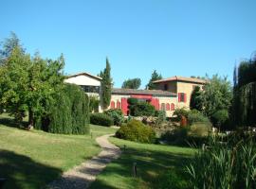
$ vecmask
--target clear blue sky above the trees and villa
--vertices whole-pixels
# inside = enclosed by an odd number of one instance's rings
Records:
[[[14,31],[27,52],[65,57],[66,74],[112,66],[115,87],[219,74],[256,50],[255,0],[2,0],[0,41]]]

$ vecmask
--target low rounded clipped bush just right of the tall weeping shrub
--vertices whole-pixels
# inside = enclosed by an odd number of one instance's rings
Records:
[[[113,126],[114,120],[105,113],[95,112],[90,114],[90,123],[99,126]]]

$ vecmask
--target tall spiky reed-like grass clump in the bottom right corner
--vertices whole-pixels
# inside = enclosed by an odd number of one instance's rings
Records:
[[[253,136],[238,135],[221,142],[210,138],[210,146],[199,150],[187,166],[192,188],[256,188],[256,148]]]

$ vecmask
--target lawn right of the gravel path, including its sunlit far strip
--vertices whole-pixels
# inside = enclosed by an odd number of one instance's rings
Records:
[[[145,145],[114,137],[110,141],[121,148],[125,145],[126,150],[123,150],[118,160],[107,165],[91,185],[91,189],[158,188],[166,172],[168,170],[181,172],[184,163],[194,152],[192,148]],[[133,177],[133,163],[137,163],[137,178]]]

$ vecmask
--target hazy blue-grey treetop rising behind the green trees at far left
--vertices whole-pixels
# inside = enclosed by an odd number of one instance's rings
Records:
[[[14,32],[10,32],[10,37],[6,39],[2,45],[2,48],[0,49],[0,65],[3,64],[5,60],[7,60],[15,47],[18,47],[21,53],[25,53],[25,49],[20,43],[17,35]]]

